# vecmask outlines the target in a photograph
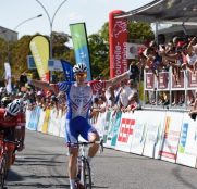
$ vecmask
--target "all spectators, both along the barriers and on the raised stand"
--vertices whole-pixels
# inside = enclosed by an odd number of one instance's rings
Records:
[[[197,38],[195,36],[173,37],[165,42],[160,40],[158,43],[151,41],[149,47],[141,48],[138,51],[138,59],[131,61],[130,80],[121,81],[119,86],[110,86],[107,89],[94,93],[90,117],[96,118],[99,112],[113,110],[114,112],[134,112],[141,109],[139,100],[139,81],[143,80],[144,71],[153,73],[156,79],[159,79],[159,72],[172,70],[176,84],[181,81],[182,72],[187,71],[192,74],[197,73]],[[196,74],[197,75],[197,74]],[[100,76],[97,79],[102,79]],[[65,93],[60,92],[56,96],[51,91],[44,91],[33,86],[28,86],[26,77],[22,74],[20,86],[13,87],[14,92],[9,94],[10,99],[23,98],[26,108],[34,110],[35,106],[41,109],[66,111]],[[25,90],[24,90],[25,89]],[[185,101],[189,105],[195,105],[196,91],[188,90],[188,99],[185,99],[185,91],[172,91],[172,104],[182,105]],[[156,104],[153,91],[148,91],[145,98],[146,103]],[[0,98],[8,97],[5,89],[0,89]],[[168,105],[170,102],[169,91],[159,92],[157,104]],[[194,106],[196,109],[196,105]]]

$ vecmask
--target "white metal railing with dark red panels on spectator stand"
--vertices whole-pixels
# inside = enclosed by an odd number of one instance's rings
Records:
[[[153,74],[151,70],[144,71],[144,109],[173,109],[187,111],[190,109],[188,104],[188,97],[194,96],[193,91],[197,89],[197,72],[192,73],[189,71],[181,71],[178,78],[172,72],[170,67],[169,71],[162,70],[158,72],[158,75]],[[153,97],[147,97],[147,93]],[[164,93],[167,98],[167,103],[160,104],[159,94]],[[184,103],[173,104],[173,98],[182,98]],[[148,98],[148,99],[147,99]],[[194,97],[193,97],[194,98]],[[150,101],[153,99],[155,103]],[[147,103],[146,101],[149,101]]]

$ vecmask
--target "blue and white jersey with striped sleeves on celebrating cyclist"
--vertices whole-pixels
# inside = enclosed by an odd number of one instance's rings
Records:
[[[66,93],[66,102],[69,108],[66,119],[73,119],[77,116],[88,118],[93,94],[103,87],[106,87],[106,81],[99,80],[86,83],[82,87],[77,86],[77,83],[58,83],[59,90]]]

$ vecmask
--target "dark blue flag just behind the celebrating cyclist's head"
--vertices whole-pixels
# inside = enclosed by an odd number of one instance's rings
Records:
[[[74,73],[73,73],[73,66],[71,65],[70,62],[60,60],[63,68],[63,73],[65,75],[65,79],[67,81],[73,81],[74,80]]]

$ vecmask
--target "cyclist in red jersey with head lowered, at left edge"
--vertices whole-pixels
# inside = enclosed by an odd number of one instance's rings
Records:
[[[20,141],[17,150],[22,151],[24,148],[25,128],[19,129],[22,123],[25,123],[25,114],[20,112],[21,106],[19,101],[14,100],[9,103],[7,108],[0,108],[0,131],[8,141]],[[7,169],[12,165],[13,151],[8,151]]]

